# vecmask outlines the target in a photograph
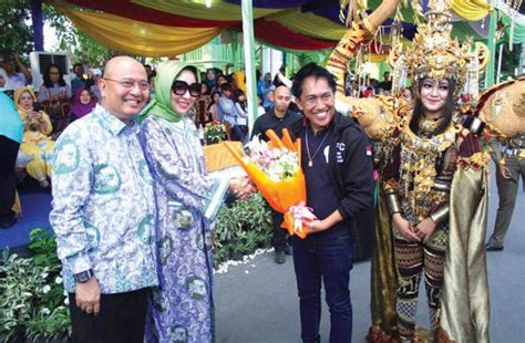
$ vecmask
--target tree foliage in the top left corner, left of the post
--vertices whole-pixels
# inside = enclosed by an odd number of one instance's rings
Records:
[[[28,54],[34,50],[29,0],[0,1],[0,51]]]

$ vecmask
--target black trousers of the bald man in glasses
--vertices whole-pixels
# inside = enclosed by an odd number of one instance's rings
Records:
[[[99,315],[83,312],[70,293],[73,343],[143,343],[150,289],[101,295]]]

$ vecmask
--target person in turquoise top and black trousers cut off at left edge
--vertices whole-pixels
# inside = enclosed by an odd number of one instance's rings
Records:
[[[12,100],[0,92],[0,228],[17,222],[12,210],[17,193],[14,164],[22,142],[23,122]]]

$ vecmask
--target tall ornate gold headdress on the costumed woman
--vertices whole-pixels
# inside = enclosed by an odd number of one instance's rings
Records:
[[[456,95],[470,94],[477,97],[478,72],[486,66],[488,50],[482,43],[460,43],[452,39],[451,0],[431,0],[425,21],[418,25],[418,33],[408,51],[401,42],[390,52],[389,62],[394,69],[392,93],[406,86],[406,77],[414,84],[419,80],[453,79]]]

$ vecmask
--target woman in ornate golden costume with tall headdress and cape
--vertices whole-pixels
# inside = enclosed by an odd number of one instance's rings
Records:
[[[477,98],[486,49],[452,40],[450,1],[430,1],[412,48],[397,45],[389,58],[395,94],[403,74],[413,80],[413,110],[389,97],[344,97],[349,60],[398,4],[383,1],[370,17],[352,23],[328,62],[338,79],[338,108],[358,118],[374,139],[381,175],[368,340],[419,339],[414,319],[424,271],[433,339],[487,342],[488,159],[477,139],[482,122],[455,107],[460,98],[463,108]]]

